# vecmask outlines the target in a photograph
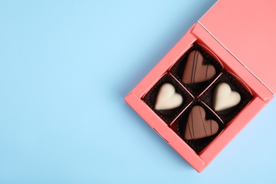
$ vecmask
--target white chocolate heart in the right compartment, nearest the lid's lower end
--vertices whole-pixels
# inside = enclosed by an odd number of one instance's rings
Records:
[[[241,96],[226,83],[220,83],[214,90],[214,110],[226,110],[237,105],[241,101]]]

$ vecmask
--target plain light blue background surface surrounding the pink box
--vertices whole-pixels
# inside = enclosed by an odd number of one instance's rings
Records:
[[[197,173],[123,98],[212,1],[0,1],[0,183],[276,183],[276,101]]]

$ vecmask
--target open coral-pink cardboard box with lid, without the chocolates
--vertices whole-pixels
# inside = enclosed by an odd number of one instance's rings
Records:
[[[276,62],[272,53],[276,49],[275,7],[276,1],[270,0],[217,1],[125,97],[125,101],[149,126],[198,172],[203,171],[274,96]],[[173,67],[196,45],[222,67],[200,93],[192,92],[180,77],[173,74]],[[197,146],[193,147],[196,143],[190,143],[181,136],[183,132],[180,132],[179,127],[185,121],[180,122],[180,119],[188,116],[187,112],[196,104],[195,101],[202,101],[200,103],[207,107],[206,110],[224,123],[224,115],[214,112],[206,99],[207,93],[212,93],[212,88],[226,74],[238,81],[251,98],[248,97],[249,100],[234,113],[234,117],[229,118],[226,125],[222,125],[219,133],[203,149],[197,151]],[[183,88],[181,90],[190,95],[172,120],[163,118],[162,113],[154,110],[145,100],[154,88],[160,88],[159,83],[166,75],[174,81],[176,88],[180,86]],[[227,76],[226,80],[229,80]]]

